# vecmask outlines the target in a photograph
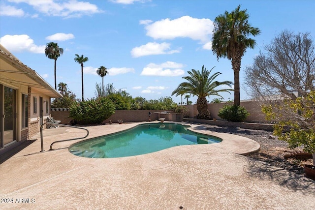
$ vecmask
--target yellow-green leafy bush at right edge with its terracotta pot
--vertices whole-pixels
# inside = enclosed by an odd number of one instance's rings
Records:
[[[315,90],[302,97],[262,106],[267,120],[275,121],[274,135],[290,149],[303,146],[313,154],[313,165],[304,165],[306,177],[315,180]]]

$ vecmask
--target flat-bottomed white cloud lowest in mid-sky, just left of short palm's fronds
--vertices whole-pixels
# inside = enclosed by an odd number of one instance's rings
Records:
[[[143,68],[140,75],[176,77],[185,74],[185,71],[182,69],[182,67],[184,67],[182,63],[176,63],[172,61],[167,61],[161,64],[149,63]]]

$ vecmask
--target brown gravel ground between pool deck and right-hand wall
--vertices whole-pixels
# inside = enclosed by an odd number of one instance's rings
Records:
[[[269,139],[269,136],[272,135],[272,132],[270,131],[244,128],[237,129],[236,127],[221,127],[203,123],[198,124],[207,127],[208,130],[211,131],[236,134],[258,142],[260,144],[260,150],[254,154],[248,155],[253,159],[267,162],[270,165],[284,168],[296,174],[304,174],[304,164],[312,165],[312,155],[301,155],[284,159],[284,153],[302,150],[302,148],[290,150],[287,148],[286,142],[279,141],[278,139]]]

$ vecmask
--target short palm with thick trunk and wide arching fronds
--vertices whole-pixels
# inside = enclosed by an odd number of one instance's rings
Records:
[[[187,82],[181,83],[177,87],[177,89],[172,92],[172,95],[177,94],[179,92],[186,92],[198,96],[197,99],[198,119],[210,119],[211,117],[210,112],[208,111],[208,102],[206,99],[207,96],[218,95],[221,97],[219,92],[233,91],[233,89],[215,90],[221,85],[227,85],[231,87],[233,83],[230,81],[223,82],[214,81],[216,77],[219,76],[221,73],[217,72],[210,76],[212,69],[208,71],[207,68],[204,66],[202,66],[201,72],[199,70],[197,71],[195,69],[191,69],[191,71],[188,71],[188,74],[190,76],[183,77],[183,79],[187,80]]]

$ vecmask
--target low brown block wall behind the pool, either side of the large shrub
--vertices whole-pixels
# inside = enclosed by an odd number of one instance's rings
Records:
[[[115,114],[110,116],[109,119],[105,120],[104,122],[109,123],[109,120],[111,120],[113,123],[118,123],[118,120],[123,120],[123,122],[142,122],[149,120],[154,121],[162,118],[161,114],[155,113],[151,114],[151,117],[149,117],[149,112],[154,113],[165,111],[168,110],[116,110]],[[170,117],[167,116],[167,119],[169,118],[172,121],[182,121],[182,116],[172,113],[173,112],[170,112]],[[55,120],[61,120],[61,124],[69,124],[69,122],[72,120],[68,117],[69,111],[50,111],[50,114]]]

